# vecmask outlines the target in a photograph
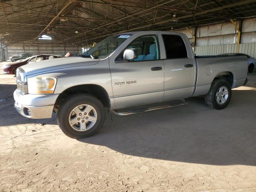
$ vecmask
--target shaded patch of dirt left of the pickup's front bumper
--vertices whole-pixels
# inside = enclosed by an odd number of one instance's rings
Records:
[[[15,84],[0,84],[0,126],[11,126],[17,124],[44,123],[56,125],[56,117],[53,114],[52,119],[29,119],[16,111],[14,108],[13,92],[16,90]]]

